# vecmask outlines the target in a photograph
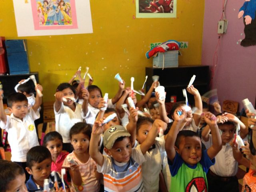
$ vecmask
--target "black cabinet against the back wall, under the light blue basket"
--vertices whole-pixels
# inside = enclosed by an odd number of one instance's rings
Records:
[[[209,66],[180,66],[174,68],[153,68],[146,67],[146,75],[148,80],[146,82],[146,90],[148,91],[152,85],[152,76],[160,76],[159,81],[166,91],[166,102],[170,102],[172,95],[177,96],[177,101],[184,101],[185,98],[182,89],[185,89],[190,82],[193,75],[196,79],[193,83],[194,87],[198,89],[201,95],[209,91],[210,71]],[[194,97],[187,93],[188,102],[194,103]]]

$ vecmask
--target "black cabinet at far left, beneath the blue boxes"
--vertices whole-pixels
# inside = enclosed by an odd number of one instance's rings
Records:
[[[30,75],[34,75],[36,77],[36,82],[39,82],[38,79],[38,72],[31,72],[30,74],[17,74],[17,75],[1,75],[0,82],[2,82],[3,90],[4,90],[4,103],[6,103],[7,96],[11,93],[14,93],[14,87],[18,82],[22,79],[29,78]],[[31,84],[34,88],[34,83],[32,80],[28,81],[27,83]],[[35,93],[34,93],[35,94]]]

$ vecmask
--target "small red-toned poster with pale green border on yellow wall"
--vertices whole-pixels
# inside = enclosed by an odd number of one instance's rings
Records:
[[[176,0],[136,0],[137,18],[176,18]]]

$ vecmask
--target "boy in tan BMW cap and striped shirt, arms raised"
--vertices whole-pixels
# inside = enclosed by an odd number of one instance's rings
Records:
[[[155,120],[146,140],[132,148],[129,132],[123,126],[111,126],[104,132],[104,151],[108,154],[105,156],[98,150],[98,141],[103,132],[101,122],[94,123],[89,153],[97,163],[98,172],[104,174],[104,191],[144,191],[141,164],[160,128],[165,130],[166,123]]]

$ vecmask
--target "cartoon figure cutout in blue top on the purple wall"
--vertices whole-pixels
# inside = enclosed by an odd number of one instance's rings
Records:
[[[238,19],[244,18],[245,38],[240,45],[244,47],[256,45],[256,0],[245,0],[238,13]]]

